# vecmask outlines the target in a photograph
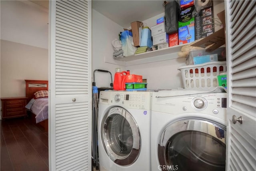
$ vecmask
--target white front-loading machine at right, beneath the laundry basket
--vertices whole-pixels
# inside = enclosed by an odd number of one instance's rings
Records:
[[[151,161],[152,171],[224,171],[226,93],[153,92]]]

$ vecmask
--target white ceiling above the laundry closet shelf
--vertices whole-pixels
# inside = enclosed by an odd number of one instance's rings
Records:
[[[92,8],[118,25],[144,21],[164,12],[163,0],[92,0]],[[145,10],[146,9],[146,10]]]

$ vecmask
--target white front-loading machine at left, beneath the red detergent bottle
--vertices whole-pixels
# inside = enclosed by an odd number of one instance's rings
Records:
[[[100,171],[149,171],[151,92],[100,91]]]

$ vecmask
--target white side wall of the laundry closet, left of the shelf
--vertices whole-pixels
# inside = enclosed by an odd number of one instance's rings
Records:
[[[113,59],[111,43],[122,31],[121,26],[92,9],[92,72],[96,69],[108,70],[114,81],[115,68],[126,70],[125,66],[120,65],[124,62]],[[114,64],[106,63],[106,58]],[[110,87],[110,74],[95,72],[95,82],[98,87]]]

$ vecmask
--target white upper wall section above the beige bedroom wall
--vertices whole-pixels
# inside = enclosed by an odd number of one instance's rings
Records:
[[[28,0],[1,0],[1,40],[48,48],[48,9]]]

